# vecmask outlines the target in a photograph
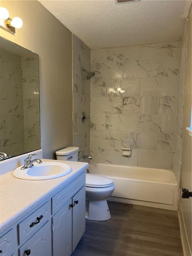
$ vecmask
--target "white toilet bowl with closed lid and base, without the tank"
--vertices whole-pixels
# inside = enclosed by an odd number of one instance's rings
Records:
[[[86,219],[103,221],[111,218],[107,198],[114,189],[112,179],[97,174],[86,174]]]

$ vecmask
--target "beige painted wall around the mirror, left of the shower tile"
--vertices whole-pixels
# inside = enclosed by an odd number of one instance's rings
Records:
[[[44,158],[73,143],[72,33],[37,1],[1,1],[23,27],[0,35],[37,54],[40,65],[41,148]]]

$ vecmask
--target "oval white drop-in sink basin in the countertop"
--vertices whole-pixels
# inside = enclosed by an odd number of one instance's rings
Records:
[[[69,174],[72,168],[68,164],[61,162],[34,163],[31,168],[21,170],[18,167],[13,171],[13,176],[22,180],[49,180]]]

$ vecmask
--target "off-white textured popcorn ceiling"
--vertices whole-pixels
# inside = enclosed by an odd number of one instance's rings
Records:
[[[91,49],[178,41],[191,5],[190,0],[39,2]]]

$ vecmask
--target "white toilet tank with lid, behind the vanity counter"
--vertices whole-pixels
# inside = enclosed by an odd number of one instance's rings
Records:
[[[78,162],[78,147],[67,147],[56,151],[57,160]]]

